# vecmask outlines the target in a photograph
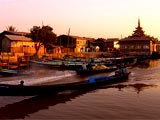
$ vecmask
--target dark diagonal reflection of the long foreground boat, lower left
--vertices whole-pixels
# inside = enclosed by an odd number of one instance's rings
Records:
[[[86,91],[75,91],[71,94],[59,94],[57,96],[46,97],[35,96],[27,100],[9,104],[0,108],[0,119],[24,119],[25,116],[28,116],[31,113],[48,109],[49,106],[54,106],[59,103],[65,103],[85,92]]]

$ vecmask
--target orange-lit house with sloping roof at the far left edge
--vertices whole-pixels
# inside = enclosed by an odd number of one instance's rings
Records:
[[[29,54],[33,50],[26,48],[34,47],[34,42],[25,35],[22,32],[2,32],[0,34],[0,52]]]

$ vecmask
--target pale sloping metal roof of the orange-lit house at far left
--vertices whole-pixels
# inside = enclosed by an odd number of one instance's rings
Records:
[[[10,40],[16,40],[16,41],[32,41],[31,38],[25,37],[25,36],[18,36],[18,35],[5,35]]]

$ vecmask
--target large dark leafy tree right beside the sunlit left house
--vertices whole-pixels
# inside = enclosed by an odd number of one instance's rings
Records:
[[[49,48],[50,45],[56,42],[56,34],[53,33],[52,30],[53,28],[50,26],[33,26],[33,28],[31,28],[30,37],[36,42],[36,56],[41,46]]]

